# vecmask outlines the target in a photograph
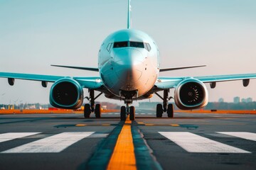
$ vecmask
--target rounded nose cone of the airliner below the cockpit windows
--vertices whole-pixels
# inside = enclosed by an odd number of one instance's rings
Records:
[[[121,49],[114,55],[114,72],[119,80],[133,84],[142,77],[144,56],[136,49]]]

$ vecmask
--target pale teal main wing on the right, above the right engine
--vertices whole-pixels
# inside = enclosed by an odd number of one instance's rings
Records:
[[[157,89],[173,89],[180,81],[191,77],[159,77],[156,81]],[[235,81],[243,80],[249,83],[249,79],[256,79],[256,74],[231,74],[231,75],[218,75],[218,76],[206,76],[206,77],[193,77],[203,83],[213,83],[219,81]]]

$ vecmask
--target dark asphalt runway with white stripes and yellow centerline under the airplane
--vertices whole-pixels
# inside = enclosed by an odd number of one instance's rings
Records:
[[[256,115],[174,116],[0,115],[0,169],[256,169]]]

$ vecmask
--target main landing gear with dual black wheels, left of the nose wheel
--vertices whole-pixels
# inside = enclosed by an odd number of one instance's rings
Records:
[[[95,99],[102,95],[102,93],[95,97],[95,91],[89,90],[89,94],[90,97],[85,97],[88,101],[90,101],[90,104],[85,104],[84,116],[85,118],[90,118],[90,113],[94,112],[96,118],[101,118],[101,106],[100,104],[95,105]]]

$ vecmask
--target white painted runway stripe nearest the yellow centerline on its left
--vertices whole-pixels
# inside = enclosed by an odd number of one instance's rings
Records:
[[[35,142],[14,147],[1,153],[57,153],[75,142],[92,135],[93,132],[63,132]]]

